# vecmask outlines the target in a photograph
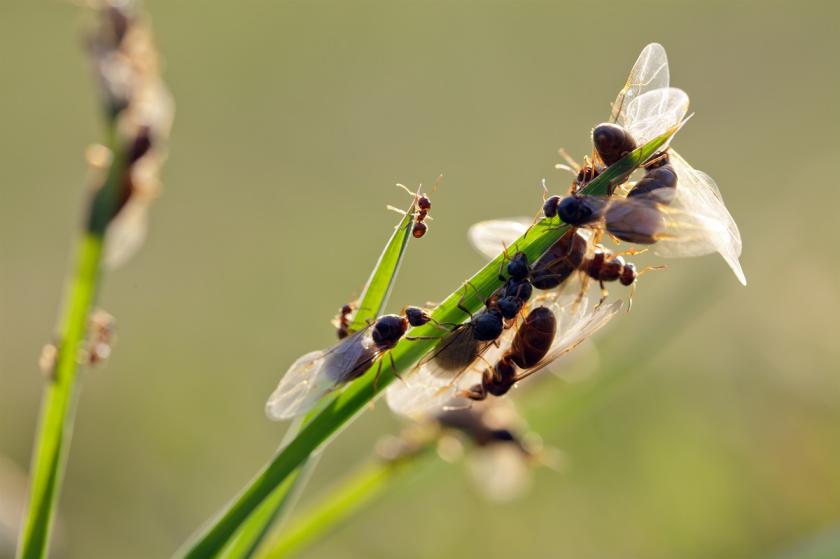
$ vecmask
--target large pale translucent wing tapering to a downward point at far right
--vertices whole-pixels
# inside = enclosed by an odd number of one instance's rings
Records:
[[[670,158],[677,173],[677,190],[670,207],[661,208],[667,217],[665,238],[654,245],[654,253],[684,257],[718,252],[738,281],[746,285],[747,278],[738,261],[741,233],[714,179],[691,167],[673,150]]]

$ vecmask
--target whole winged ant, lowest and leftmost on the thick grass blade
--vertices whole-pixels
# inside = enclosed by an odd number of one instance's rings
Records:
[[[301,356],[269,397],[266,414],[282,421],[306,413],[329,392],[361,376],[396,345],[409,326],[422,326],[430,320],[422,309],[406,307],[402,316],[386,314],[329,349]],[[381,360],[379,367],[381,370]]]

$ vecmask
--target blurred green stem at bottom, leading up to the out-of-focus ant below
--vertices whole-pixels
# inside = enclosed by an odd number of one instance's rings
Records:
[[[376,460],[360,468],[319,501],[298,520],[293,521],[283,536],[260,559],[281,559],[295,555],[325,533],[364,509],[391,484],[420,469],[430,459],[434,445],[426,445],[404,459],[388,462]]]

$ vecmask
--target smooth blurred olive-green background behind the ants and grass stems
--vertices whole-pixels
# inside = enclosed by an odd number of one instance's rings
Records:
[[[173,552],[279,444],[263,403],[296,356],[333,341],[329,319],[395,223],[385,205],[408,201],[393,183],[445,174],[396,310],[478,269],[469,224],[532,214],[543,177],[565,188],[556,149],[588,151],[651,41],[691,95],[676,145],[717,178],[749,286],[718,257],[669,261],[599,337],[586,390],[523,390],[568,461],[524,499],[489,505],[439,465],[306,556],[764,558],[840,524],[840,265],[823,243],[840,202],[835,3],[147,7],[178,106],[171,158],[146,246],[106,278],[119,339],[84,378],[54,556]],[[6,470],[29,462],[36,361],[80,222],[82,152],[100,138],[85,22],[63,2],[0,4]],[[384,404],[364,414],[303,501],[398,428]]]

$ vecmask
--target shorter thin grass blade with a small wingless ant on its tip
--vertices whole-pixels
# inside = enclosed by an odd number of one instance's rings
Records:
[[[400,264],[405,257],[408,242],[412,237],[416,204],[417,200],[415,198],[385,243],[385,248],[382,250],[359,298],[359,306],[348,329],[350,332],[364,328],[369,322],[376,320],[382,314],[385,305],[388,304],[388,297],[396,281]],[[308,414],[302,424],[305,425],[316,415],[317,410]],[[236,536],[221,553],[222,557],[239,559],[253,555],[272,526],[282,519],[294,502],[294,494],[300,491],[302,482],[307,478],[304,470],[313,469],[315,467],[314,462],[313,457],[310,456],[304,465],[271,493],[265,502],[243,523]]]

